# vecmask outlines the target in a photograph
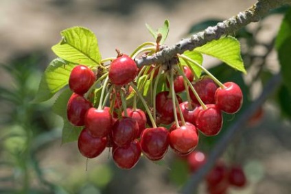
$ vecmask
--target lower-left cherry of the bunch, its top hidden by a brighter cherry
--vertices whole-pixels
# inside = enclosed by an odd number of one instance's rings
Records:
[[[86,158],[95,158],[105,149],[106,137],[93,137],[89,130],[84,128],[78,138],[78,148],[80,153]]]

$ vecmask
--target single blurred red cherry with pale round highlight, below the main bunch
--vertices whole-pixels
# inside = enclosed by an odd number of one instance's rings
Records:
[[[205,165],[206,161],[207,158],[205,154],[201,151],[192,151],[187,156],[187,164],[192,173],[200,169],[200,167],[202,167],[203,165]]]

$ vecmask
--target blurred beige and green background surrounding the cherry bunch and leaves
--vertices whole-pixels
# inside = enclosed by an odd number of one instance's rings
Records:
[[[145,23],[160,27],[170,21],[167,45],[215,25],[255,1],[246,0],[1,0],[0,1],[0,193],[178,193],[190,169],[171,151],[161,162],[141,158],[124,171],[113,164],[110,151],[88,161],[76,142],[61,145],[62,120],[52,112],[53,100],[31,104],[40,77],[56,58],[51,46],[60,31],[83,26],[97,36],[102,58],[124,53],[152,36]],[[235,35],[242,43],[248,75],[242,76],[206,58],[220,80],[234,80],[244,90],[244,108],[261,93],[266,81],[280,71],[273,49],[283,8]],[[224,69],[225,68],[225,69]],[[290,98],[279,86],[235,137],[221,160],[240,165],[248,180],[229,193],[291,193]],[[243,108],[243,110],[244,110]],[[206,155],[239,114],[224,119],[220,136],[200,138],[197,150]],[[87,170],[86,170],[87,169]],[[201,180],[197,191],[207,193]]]

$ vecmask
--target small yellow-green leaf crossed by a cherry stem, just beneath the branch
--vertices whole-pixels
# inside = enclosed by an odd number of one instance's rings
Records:
[[[198,53],[197,51],[185,51],[183,53],[185,56],[191,58],[192,60],[195,60],[198,64],[202,64],[203,62],[203,56],[201,53]],[[189,66],[189,68],[194,71],[195,75],[199,78],[201,73],[202,73],[202,70],[196,66],[196,64],[193,64],[192,62],[189,62],[187,64],[187,62],[185,62],[185,60],[181,60],[180,61],[182,65],[186,65],[186,66]]]

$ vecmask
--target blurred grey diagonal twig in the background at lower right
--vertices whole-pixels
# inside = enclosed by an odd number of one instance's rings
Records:
[[[216,160],[222,155],[226,147],[233,141],[235,135],[237,135],[242,128],[244,128],[244,124],[251,116],[255,113],[255,111],[264,104],[264,101],[271,95],[276,88],[281,84],[282,77],[281,74],[278,73],[274,75],[269,82],[264,87],[261,95],[250,105],[244,112],[242,112],[241,116],[237,119],[233,125],[225,132],[225,134],[220,138],[218,143],[216,143],[215,148],[209,154],[207,158],[207,162],[203,165],[198,171],[193,173],[185,186],[183,187],[182,193],[188,194],[193,193],[194,189],[197,188],[199,182],[202,178],[207,174],[207,172],[213,167]]]

